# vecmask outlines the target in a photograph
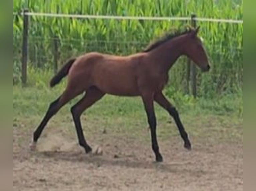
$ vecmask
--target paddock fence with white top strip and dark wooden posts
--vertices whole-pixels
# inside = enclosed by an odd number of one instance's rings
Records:
[[[22,37],[22,84],[27,82],[27,58],[28,58],[28,30],[29,17],[54,17],[54,18],[76,18],[76,19],[115,19],[115,20],[149,20],[149,21],[189,21],[193,27],[196,27],[197,22],[215,22],[215,23],[230,23],[243,24],[242,20],[230,19],[213,19],[213,18],[198,18],[196,15],[191,17],[133,17],[133,16],[105,16],[105,15],[72,15],[72,14],[54,14],[54,13],[33,13],[24,10],[22,13],[13,13],[15,15],[22,15],[23,17],[23,37]],[[54,46],[54,71],[58,70],[59,60],[59,43],[58,38],[49,39],[53,41]],[[189,82],[191,82],[192,94],[197,96],[197,70],[194,64],[191,64],[187,59],[186,66],[186,92],[189,93]]]

